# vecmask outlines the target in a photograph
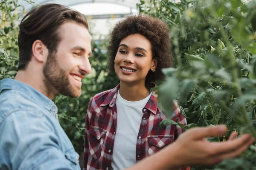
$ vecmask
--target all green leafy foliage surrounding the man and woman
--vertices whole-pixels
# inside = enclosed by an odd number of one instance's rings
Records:
[[[166,81],[158,89],[165,113],[172,113],[170,103],[176,98],[189,123],[186,129],[226,124],[229,131],[225,136],[209,140],[226,140],[231,131],[256,137],[256,1],[140,0],[137,7],[140,13],[161,18],[171,30],[175,63],[163,70]],[[14,78],[17,73],[18,24],[25,13],[17,0],[0,2],[0,79]],[[118,84],[116,77],[108,75],[107,56],[101,52],[106,42],[92,42],[90,62],[94,69],[83,79],[82,95],[54,99],[61,126],[78,153],[83,152],[84,118],[90,99]],[[171,123],[167,119],[162,125]],[[237,159],[192,169],[254,170],[255,151],[251,146]]]

